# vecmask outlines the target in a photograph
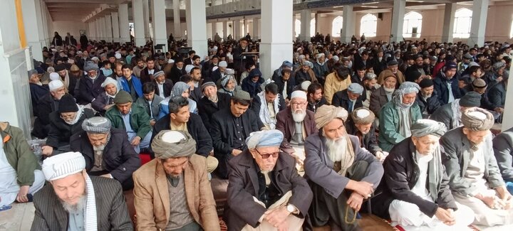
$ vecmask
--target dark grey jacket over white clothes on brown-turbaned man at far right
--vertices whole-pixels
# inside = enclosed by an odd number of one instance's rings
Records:
[[[489,134],[483,142],[484,178],[487,180],[489,188],[504,186],[497,161],[492,155],[492,134]],[[447,176],[449,176],[451,190],[461,195],[471,195],[476,188],[464,177],[470,162],[470,141],[463,134],[463,128],[447,131],[440,139],[440,145],[442,147],[442,163]]]

